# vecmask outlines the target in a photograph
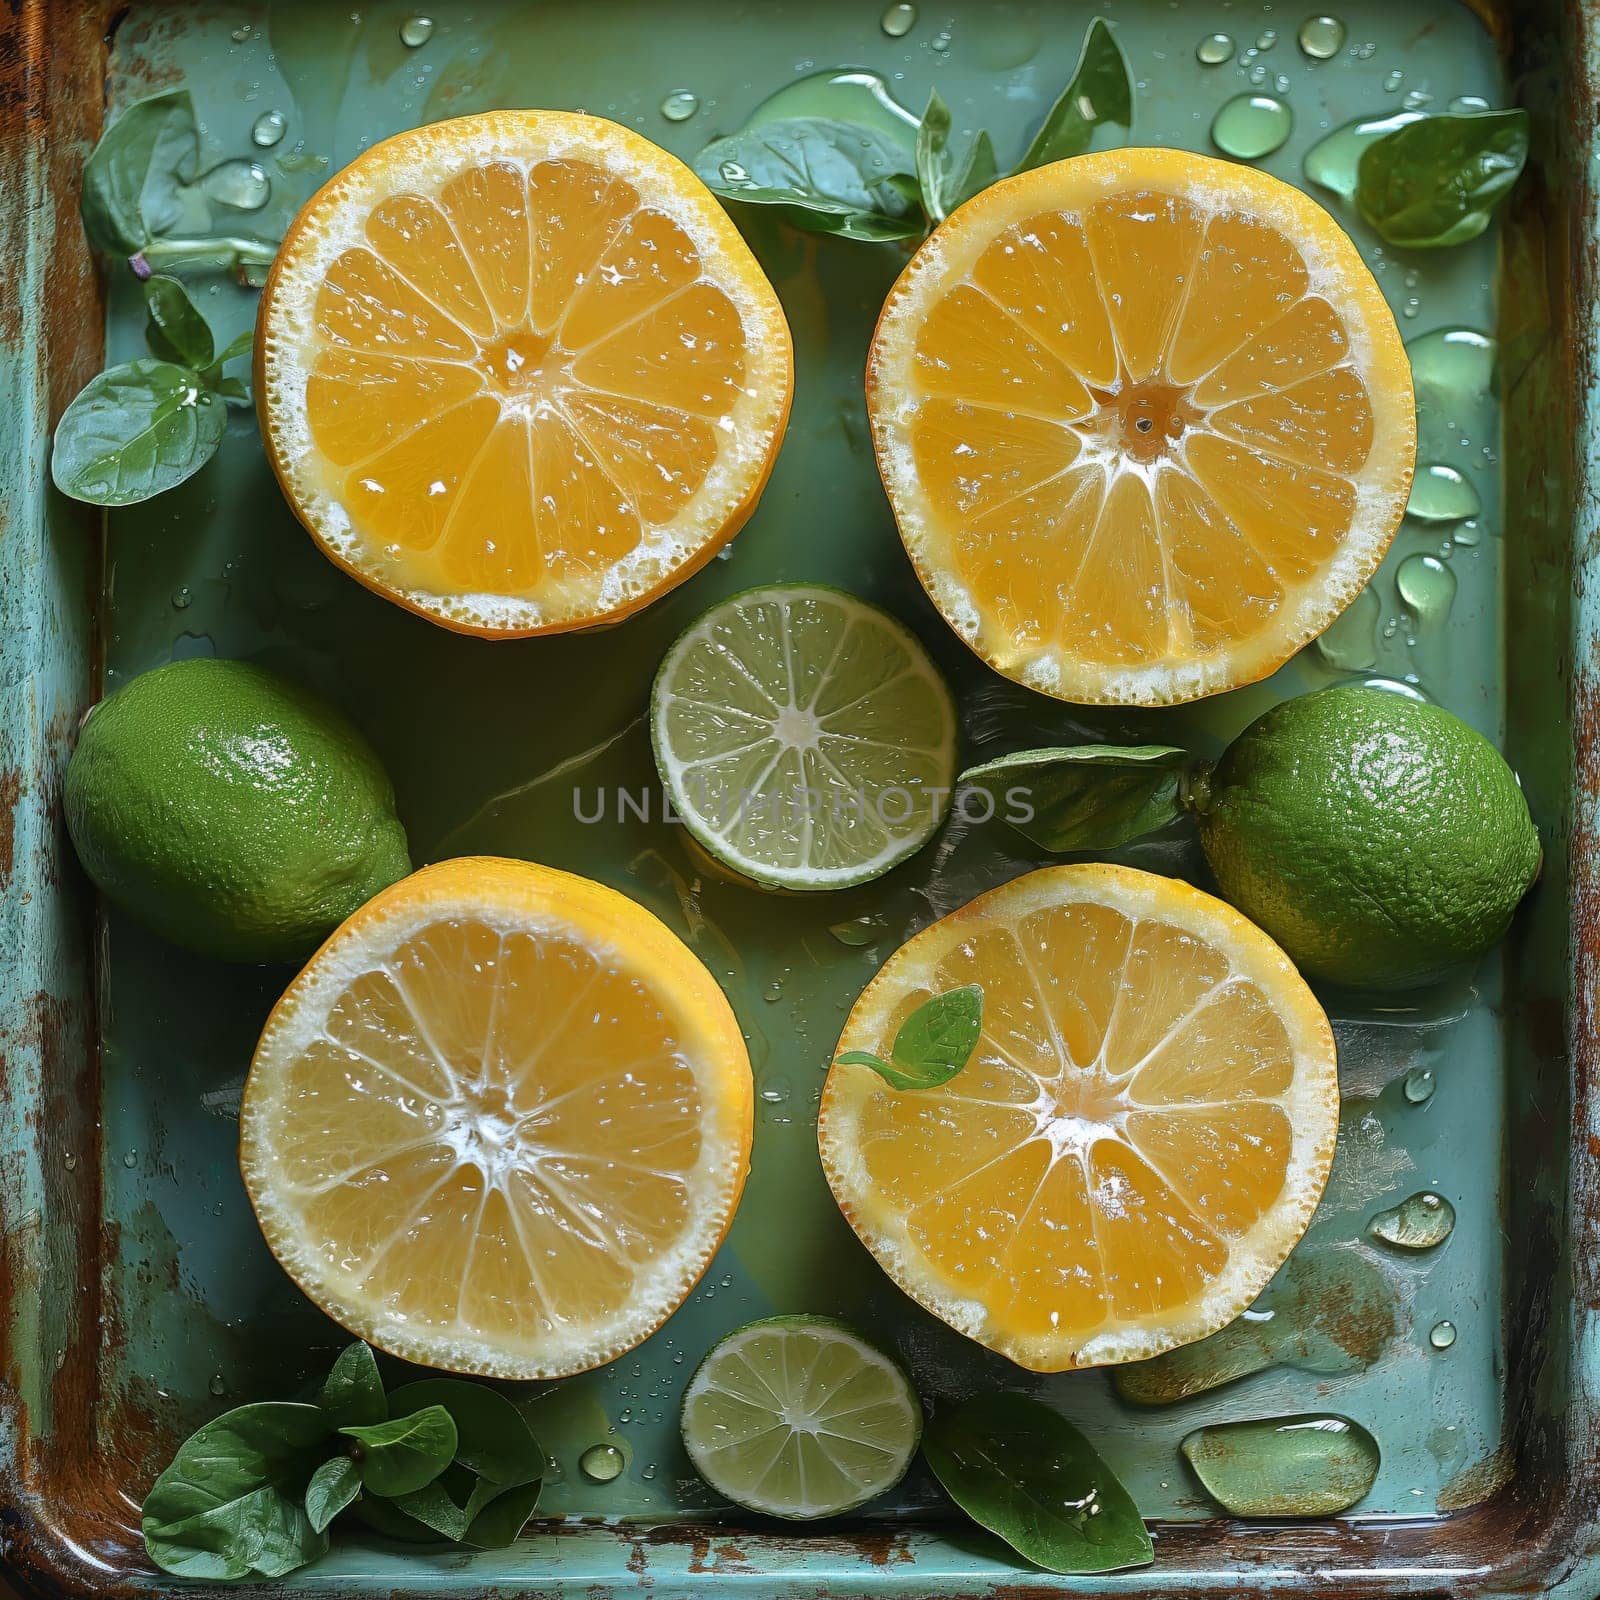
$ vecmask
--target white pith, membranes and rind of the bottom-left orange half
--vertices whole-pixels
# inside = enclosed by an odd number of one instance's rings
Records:
[[[456,866],[448,862],[429,870],[443,874]],[[554,1331],[541,1331],[530,1315],[528,1326],[517,1338],[506,1338],[498,1331],[485,1334],[461,1315],[459,1302],[448,1326],[421,1326],[405,1314],[395,1314],[368,1294],[365,1283],[382,1261],[384,1251],[398,1245],[419,1219],[422,1226],[430,1221],[422,1213],[432,1192],[422,1197],[421,1211],[413,1206],[397,1213],[394,1234],[366,1261],[365,1270],[357,1270],[360,1262],[341,1262],[336,1267],[330,1264],[326,1246],[338,1242],[312,1237],[301,1205],[370,1173],[371,1157],[365,1157],[357,1170],[330,1173],[325,1181],[307,1186],[290,1179],[283,1171],[280,1150],[285,1149],[283,1141],[294,1136],[296,1102],[290,1093],[290,1072],[296,1061],[317,1042],[352,1053],[346,1042],[334,1040],[328,1032],[334,1005],[357,979],[378,970],[387,970],[405,992],[403,979],[389,963],[395,952],[429,928],[451,920],[472,923],[499,936],[501,949],[509,934],[531,934],[552,944],[578,946],[606,970],[640,973],[646,982],[648,958],[642,955],[642,941],[659,946],[662,936],[672,939],[666,928],[622,896],[614,896],[619,902],[614,914],[602,910],[600,915],[592,907],[574,910],[570,902],[562,901],[560,891],[546,894],[542,904],[538,899],[539,896],[530,898],[518,888],[504,894],[493,890],[485,894],[474,888],[453,894],[446,890],[411,899],[390,890],[358,912],[301,973],[262,1032],[245,1090],[240,1142],[245,1186],[267,1243],[290,1277],[336,1322],[408,1360],[453,1371],[522,1379],[584,1371],[638,1344],[683,1301],[726,1232],[749,1163],[752,1090],[747,1062],[742,1069],[730,1062],[730,1042],[738,1038],[736,1024],[709,974],[699,970],[698,978],[691,979],[696,984],[702,979],[704,995],[712,997],[720,1008],[706,1022],[694,1016],[701,995],[686,998],[675,994],[672,979],[662,979],[667,987],[658,990],[664,995],[664,1003],[675,1003],[682,1019],[682,1050],[677,1059],[693,1074],[701,1106],[694,1165],[683,1171],[661,1170],[662,1176],[670,1176],[682,1186],[688,1198],[686,1219],[678,1234],[646,1259],[627,1256],[634,1267],[630,1293],[624,1302],[608,1307],[600,1317],[562,1318],[542,1299],[541,1264],[531,1258],[520,1227],[515,1234],[528,1266],[530,1306],[542,1306],[542,1314],[557,1325]],[[688,957],[688,952],[683,950],[682,955]],[[688,960],[693,962],[693,957]],[[499,976],[496,984],[501,984]],[[498,987],[496,994],[499,992]],[[579,994],[571,1003],[576,1006],[581,1002]],[[518,1094],[533,1098],[515,1104],[512,1114],[506,1083],[496,1082],[490,1067],[493,1035],[485,1042],[483,1056],[475,1061],[451,1058],[434,1046],[426,1021],[418,1027],[418,1037],[427,1043],[434,1064],[450,1082],[450,1094],[432,1094],[422,1086],[406,1085],[394,1062],[366,1058],[352,1061],[355,1070],[395,1080],[414,1096],[413,1115],[419,1128],[416,1146],[448,1150],[456,1165],[475,1168],[483,1179],[485,1198],[490,1190],[509,1194],[514,1174],[520,1174],[530,1187],[552,1197],[552,1210],[571,1218],[568,1227],[584,1227],[590,1237],[608,1237],[603,1187],[594,1182],[586,1187],[570,1168],[562,1166],[562,1174],[557,1176],[546,1165],[560,1163],[568,1154],[587,1154],[592,1158],[594,1152],[570,1152],[552,1142],[549,1133],[539,1131],[541,1114],[555,1101],[539,1093],[538,1056],[523,1064],[525,1070],[515,1085]],[[390,1157],[398,1154],[398,1149],[389,1152]],[[618,1254],[622,1254],[621,1246]],[[470,1266],[470,1240],[462,1238],[462,1285]]]

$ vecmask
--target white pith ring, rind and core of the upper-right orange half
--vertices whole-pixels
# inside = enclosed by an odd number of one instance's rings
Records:
[[[1408,389],[1397,397],[1378,394],[1366,386],[1373,406],[1373,445],[1362,470],[1347,478],[1355,491],[1355,507],[1333,558],[1299,584],[1278,573],[1283,602],[1272,626],[1232,646],[1210,653],[1182,648],[1181,618],[1178,608],[1171,608],[1174,638],[1168,642],[1166,653],[1146,662],[1117,664],[1080,661],[1053,643],[1037,643],[1008,632],[973,594],[947,554],[941,514],[928,510],[912,448],[912,424],[926,398],[915,378],[917,336],[939,299],[963,283],[971,285],[970,274],[982,251],[1005,229],[1042,211],[1054,211],[1077,222],[1101,198],[1128,190],[1152,190],[1187,202],[1208,221],[1222,214],[1243,214],[1277,229],[1301,250],[1309,275],[1301,299],[1322,298],[1339,314],[1349,339],[1347,357],[1326,371],[1371,371],[1379,350],[1403,360],[1394,317],[1355,246],[1333,227],[1315,202],[1288,184],[1262,184],[1261,179],[1259,173],[1242,178],[1240,170],[1226,162],[1166,150],[1114,150],[1062,162],[995,184],[962,206],[954,221],[946,222],[917,251],[890,293],[874,336],[867,389],[878,467],[901,536],[923,587],[957,634],[990,666],[1029,688],[1077,702],[1173,704],[1254,682],[1315,638],[1355,598],[1376,571],[1398,526],[1414,459],[1411,395]],[[1190,270],[1189,278],[1192,277]],[[1104,293],[1101,286],[1102,299]],[[1290,310],[1293,306],[1272,309],[1253,336],[1267,331]],[[1179,315],[1173,323],[1174,331],[1181,320]],[[1114,320],[1110,328],[1115,339]],[[1218,366],[1235,354],[1238,352],[1227,352]],[[1155,376],[1163,373],[1165,366]],[[1187,378],[1178,387],[1194,389],[1206,376],[1210,374]],[[1118,395],[1125,381],[1123,365],[1104,392]],[[1234,394],[1227,403],[1242,398],[1246,395]],[[1083,454],[1072,461],[1070,470],[1077,472],[1080,466],[1099,469],[1102,506],[1104,496],[1123,477],[1138,478],[1154,491],[1163,474],[1190,475],[1181,440],[1170,458],[1157,462],[1141,462],[1114,448],[1101,410],[1096,406],[1078,418],[1051,413],[1048,419],[1072,432],[1083,446]],[[1202,408],[1203,414],[1192,430],[1206,432],[1210,410]],[[1237,440],[1229,438],[1229,443]],[[1046,485],[1035,485],[1029,493]],[[1154,493],[1150,498],[1160,531],[1160,501]]]

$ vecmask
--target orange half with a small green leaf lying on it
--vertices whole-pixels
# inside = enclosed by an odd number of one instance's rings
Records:
[[[1141,1360],[1238,1315],[1306,1230],[1338,1133],[1333,1034],[1282,950],[1171,878],[1046,867],[902,946],[840,1050],[888,1058],[984,992],[939,1090],[834,1066],[822,1166],[907,1294],[1035,1371]]]

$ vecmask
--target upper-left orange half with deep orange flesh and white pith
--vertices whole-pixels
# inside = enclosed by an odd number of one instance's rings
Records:
[[[373,146],[294,219],[256,341],[283,491],[362,582],[490,637],[614,621],[750,514],[789,328],[726,213],[616,123]]]

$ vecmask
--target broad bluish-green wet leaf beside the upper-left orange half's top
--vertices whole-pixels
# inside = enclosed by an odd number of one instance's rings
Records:
[[[904,168],[906,152],[886,134],[827,117],[744,128],[694,157],[694,171],[725,200],[779,206],[795,227],[866,240],[922,234]]]

